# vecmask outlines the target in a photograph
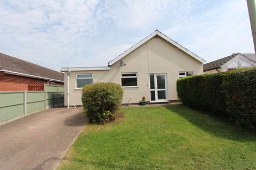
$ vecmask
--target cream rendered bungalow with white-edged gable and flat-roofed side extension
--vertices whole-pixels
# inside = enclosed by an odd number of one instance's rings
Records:
[[[65,105],[81,105],[82,88],[93,82],[115,82],[124,89],[123,104],[177,100],[176,81],[203,74],[205,61],[156,30],[104,67],[62,67]]]

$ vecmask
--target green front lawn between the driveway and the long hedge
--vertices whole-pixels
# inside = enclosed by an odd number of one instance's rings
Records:
[[[256,169],[256,133],[183,105],[86,125],[59,169]]]

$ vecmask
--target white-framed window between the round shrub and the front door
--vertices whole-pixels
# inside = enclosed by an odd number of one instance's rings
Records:
[[[122,87],[137,87],[137,73],[121,73]]]

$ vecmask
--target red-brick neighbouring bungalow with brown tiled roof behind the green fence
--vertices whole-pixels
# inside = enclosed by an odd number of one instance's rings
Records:
[[[0,53],[0,91],[31,90],[44,84],[64,85],[58,71]]]

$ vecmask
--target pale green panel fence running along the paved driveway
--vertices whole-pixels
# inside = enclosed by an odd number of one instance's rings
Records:
[[[0,91],[0,122],[64,105],[64,87],[46,85],[45,91]]]

